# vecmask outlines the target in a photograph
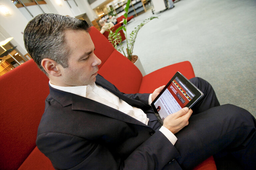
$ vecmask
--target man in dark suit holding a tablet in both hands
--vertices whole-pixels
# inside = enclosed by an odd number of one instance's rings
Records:
[[[86,21],[42,14],[24,31],[28,53],[50,80],[36,144],[56,169],[191,169],[213,154],[254,169],[256,121],[248,111],[220,106],[211,85],[194,78],[205,95],[193,115],[183,108],[161,126],[149,104],[164,86],[121,93],[97,75],[88,30]]]

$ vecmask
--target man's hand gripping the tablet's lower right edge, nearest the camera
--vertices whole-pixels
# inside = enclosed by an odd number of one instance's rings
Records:
[[[188,107],[184,107],[176,113],[168,115],[164,119],[163,126],[175,134],[189,124],[189,118],[192,112]]]

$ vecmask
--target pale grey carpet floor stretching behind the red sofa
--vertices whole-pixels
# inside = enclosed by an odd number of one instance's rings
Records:
[[[174,5],[154,15],[149,10],[127,25],[130,33],[144,19],[159,17],[142,27],[134,47],[146,74],[188,60],[196,76],[213,85],[221,104],[243,107],[256,117],[256,0]]]

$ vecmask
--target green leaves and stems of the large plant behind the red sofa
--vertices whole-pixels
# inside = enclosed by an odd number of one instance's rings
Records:
[[[151,21],[155,18],[158,18],[158,17],[150,17],[148,19],[145,19],[141,24],[139,24],[137,27],[135,27],[135,29],[130,34],[130,38],[128,38],[126,28],[127,28],[127,17],[128,17],[128,10],[129,10],[129,7],[130,7],[130,2],[131,2],[131,0],[128,0],[127,3],[126,3],[126,7],[124,8],[125,13],[124,13],[123,16],[124,16],[125,19],[123,19],[123,24],[125,26],[119,27],[118,29],[116,29],[115,32],[113,32],[112,30],[108,30],[109,31],[108,41],[113,45],[113,47],[116,50],[123,53],[123,55],[125,57],[127,57],[130,61],[135,63],[138,60],[138,56],[133,55],[133,48],[134,48],[134,44],[135,44],[137,34],[138,34],[139,30],[145,24],[147,24],[149,21]],[[122,42],[121,34],[118,33],[120,30],[124,31],[124,34],[125,34],[125,37],[126,37],[126,48],[125,49],[124,49],[124,47],[122,46],[122,43],[121,43]],[[117,49],[117,45],[119,45],[120,49]],[[141,70],[141,72],[142,72],[142,70]]]

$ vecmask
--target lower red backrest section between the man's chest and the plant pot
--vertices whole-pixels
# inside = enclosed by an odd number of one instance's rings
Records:
[[[140,70],[117,50],[109,56],[98,74],[124,93],[138,93],[142,81]]]

